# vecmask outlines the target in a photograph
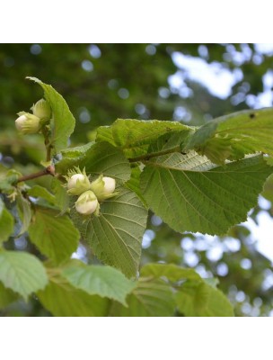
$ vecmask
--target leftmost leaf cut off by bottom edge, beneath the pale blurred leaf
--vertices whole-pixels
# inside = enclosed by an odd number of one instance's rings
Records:
[[[75,289],[60,277],[37,293],[42,305],[54,316],[107,316],[109,300]]]

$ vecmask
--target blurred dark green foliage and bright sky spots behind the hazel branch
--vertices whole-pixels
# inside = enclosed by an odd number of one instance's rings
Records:
[[[36,76],[62,94],[75,115],[71,145],[94,139],[96,128],[117,118],[181,121],[201,125],[248,108],[272,106],[273,46],[269,44],[2,44],[0,46],[0,159],[22,174],[40,168],[40,136],[14,129],[16,112],[42,96],[25,76]],[[0,165],[1,166],[1,165]],[[49,185],[48,178],[40,184]],[[272,219],[269,178],[250,220],[225,237],[179,234],[150,214],[142,264],[168,262],[218,277],[237,316],[273,316],[272,239],[260,253],[251,231],[260,216]],[[249,226],[249,223],[252,226]],[[273,223],[273,222],[272,222]],[[9,248],[35,252],[27,238]],[[92,260],[82,244],[75,257]],[[46,316],[36,299],[14,302],[2,316]]]

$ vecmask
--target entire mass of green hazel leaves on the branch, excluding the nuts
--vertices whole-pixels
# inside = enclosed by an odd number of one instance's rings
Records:
[[[18,294],[27,300],[36,293],[57,316],[232,315],[216,280],[192,269],[152,264],[136,280],[141,242],[148,209],[180,232],[224,234],[245,220],[272,173],[273,110],[239,112],[200,128],[119,119],[98,128],[95,141],[66,148],[75,127],[72,113],[54,88],[31,80],[41,85],[53,112],[46,142],[55,177],[49,192],[0,169],[0,241],[28,232],[40,254],[3,245],[1,307]],[[101,204],[99,217],[77,213],[68,198],[64,176],[74,166],[119,184],[119,194]],[[71,260],[80,239],[104,266]]]

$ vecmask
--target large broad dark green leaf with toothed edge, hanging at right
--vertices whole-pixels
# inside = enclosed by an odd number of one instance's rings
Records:
[[[272,171],[261,156],[214,166],[195,152],[173,153],[146,162],[140,186],[172,229],[225,234],[246,220]]]

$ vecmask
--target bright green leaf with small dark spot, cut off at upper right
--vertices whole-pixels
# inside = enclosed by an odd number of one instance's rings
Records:
[[[273,155],[273,108],[234,112],[209,121],[189,139],[194,148],[216,164],[258,151]]]

